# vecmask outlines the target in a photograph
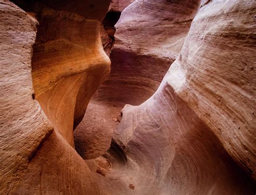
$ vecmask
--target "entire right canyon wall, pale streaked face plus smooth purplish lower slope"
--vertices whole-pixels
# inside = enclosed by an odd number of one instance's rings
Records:
[[[255,193],[254,14],[253,1],[201,4],[157,92],[122,110],[126,161],[106,177],[136,194]]]

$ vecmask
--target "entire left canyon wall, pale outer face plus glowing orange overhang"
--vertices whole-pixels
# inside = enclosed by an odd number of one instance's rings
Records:
[[[110,71],[99,36],[109,2],[73,2],[88,5],[90,17],[86,11],[78,15],[81,10],[70,2],[59,3],[58,10],[51,1],[43,3],[49,7],[24,5],[37,17],[36,29],[35,17],[1,2],[1,43],[6,47],[1,51],[1,190],[98,193],[88,166],[72,148],[73,127]]]

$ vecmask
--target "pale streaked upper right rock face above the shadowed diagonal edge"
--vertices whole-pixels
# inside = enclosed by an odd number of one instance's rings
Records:
[[[166,75],[178,96],[254,179],[255,8],[253,1],[205,3]]]

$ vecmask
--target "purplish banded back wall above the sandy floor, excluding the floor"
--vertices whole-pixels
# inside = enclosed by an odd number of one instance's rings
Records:
[[[156,91],[181,50],[197,9],[196,1],[135,1],[122,12],[110,57],[111,75],[105,82],[117,89],[111,98],[139,95],[125,101],[139,105]],[[117,91],[126,94],[118,97]]]

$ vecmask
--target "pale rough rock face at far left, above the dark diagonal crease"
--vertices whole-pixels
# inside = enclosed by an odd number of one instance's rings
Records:
[[[37,22],[10,2],[0,2],[0,12],[0,183],[4,193],[25,177],[26,165],[53,128],[33,100],[31,51]]]

